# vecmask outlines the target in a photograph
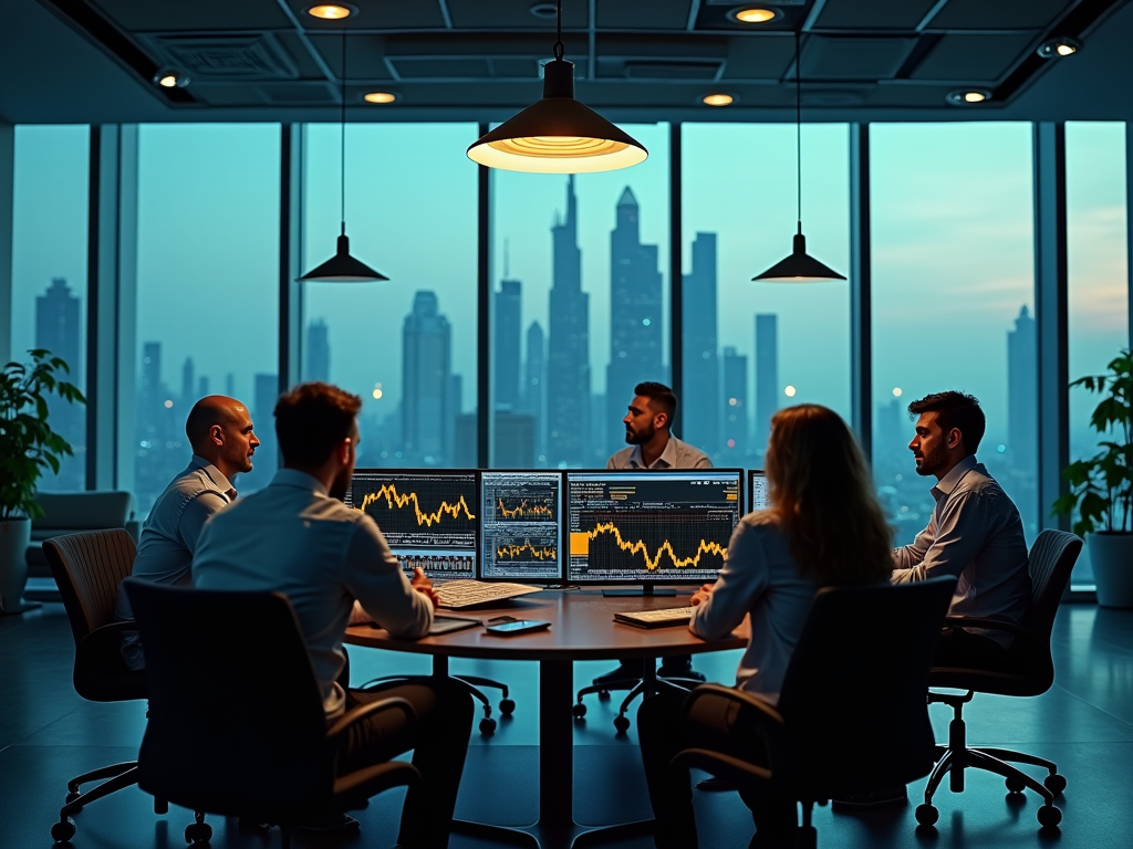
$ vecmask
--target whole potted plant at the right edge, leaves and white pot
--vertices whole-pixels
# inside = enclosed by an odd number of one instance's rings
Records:
[[[1091,375],[1071,386],[1101,395],[1090,418],[1101,437],[1092,457],[1066,466],[1070,492],[1055,501],[1055,512],[1077,508],[1074,533],[1087,538],[1098,603],[1133,608],[1133,375],[1128,349],[1109,363],[1109,374]]]

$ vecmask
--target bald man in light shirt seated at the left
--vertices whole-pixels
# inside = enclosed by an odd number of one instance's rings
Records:
[[[201,531],[213,514],[236,500],[232,479],[252,471],[252,455],[259,440],[247,408],[225,395],[201,398],[189,411],[185,435],[193,458],[154,501],[142,526],[133,576],[156,584],[191,583],[189,567]],[[133,619],[126,593],[118,593],[114,616]],[[136,635],[122,641],[126,666],[144,667]]]

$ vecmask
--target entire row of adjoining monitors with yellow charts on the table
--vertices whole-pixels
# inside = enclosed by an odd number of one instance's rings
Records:
[[[358,469],[346,496],[411,573],[535,584],[713,581],[743,514],[743,470]],[[767,506],[763,472],[749,509]]]

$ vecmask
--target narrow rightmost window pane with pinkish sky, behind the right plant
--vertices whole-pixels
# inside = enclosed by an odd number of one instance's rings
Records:
[[[1130,344],[1125,155],[1123,122],[1066,123],[1071,380],[1105,374],[1106,365]],[[1102,437],[1090,427],[1090,414],[1100,397],[1071,391],[1071,460],[1097,453]],[[1073,584],[1093,584],[1084,549]]]

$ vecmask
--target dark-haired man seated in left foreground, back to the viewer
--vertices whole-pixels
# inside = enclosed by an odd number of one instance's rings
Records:
[[[421,782],[406,796],[398,842],[404,849],[433,849],[449,842],[472,724],[471,697],[445,678],[365,692],[340,681],[347,662],[342,637],[356,600],[369,619],[403,640],[428,634],[436,604],[424,573],[410,583],[374,520],[342,504],[358,452],[360,409],[357,395],[321,383],[297,386],[279,400],[275,435],[283,468],[267,487],[210,522],[193,558],[193,584],[288,597],[327,720],[394,696],[412,705],[414,730],[400,717],[372,715],[351,728],[338,762],[344,774],[414,749]],[[358,827],[344,815],[317,826]]]

